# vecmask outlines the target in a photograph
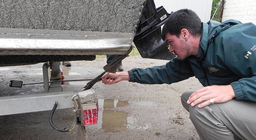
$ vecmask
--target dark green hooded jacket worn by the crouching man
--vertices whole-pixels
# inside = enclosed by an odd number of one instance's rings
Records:
[[[205,86],[231,84],[236,100],[256,102],[256,26],[236,20],[202,23],[202,57],[129,70],[129,82],[172,84],[195,76]]]

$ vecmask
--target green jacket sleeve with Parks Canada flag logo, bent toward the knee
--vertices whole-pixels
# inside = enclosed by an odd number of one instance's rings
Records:
[[[256,102],[256,26],[239,26],[229,37],[223,37],[225,64],[241,77],[231,83],[236,100]]]

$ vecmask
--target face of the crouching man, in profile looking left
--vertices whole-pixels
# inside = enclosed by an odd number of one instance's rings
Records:
[[[167,33],[165,35],[166,42],[170,45],[170,53],[174,53],[181,60],[185,60],[189,57],[190,47],[183,39],[182,35],[177,37],[176,35],[171,35]]]

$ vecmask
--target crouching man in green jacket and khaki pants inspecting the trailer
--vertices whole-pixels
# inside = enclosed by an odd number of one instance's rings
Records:
[[[169,16],[162,39],[176,58],[108,73],[102,82],[172,84],[195,76],[204,88],[183,93],[181,102],[200,139],[230,140],[234,134],[256,139],[256,26],[236,20],[202,23],[195,12],[181,9]]]

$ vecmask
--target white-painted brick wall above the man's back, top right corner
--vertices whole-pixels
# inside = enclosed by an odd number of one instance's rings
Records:
[[[228,19],[256,24],[256,0],[226,0],[222,21]]]

